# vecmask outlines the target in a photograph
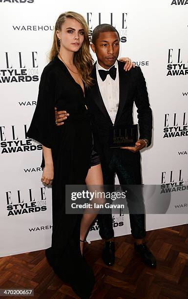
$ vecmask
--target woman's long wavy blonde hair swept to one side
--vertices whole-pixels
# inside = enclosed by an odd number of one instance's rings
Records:
[[[89,27],[82,15],[73,11],[67,11],[59,16],[55,25],[53,44],[50,51],[49,60],[52,61],[60,51],[60,42],[57,37],[56,31],[62,30],[62,24],[66,21],[66,18],[75,19],[82,25],[84,29],[84,42],[82,44],[82,47],[78,50],[78,52],[75,52],[73,63],[78,68],[79,74],[82,80],[84,81],[85,85],[86,86],[93,85],[93,79],[91,78],[93,59],[89,51],[89,45],[90,45],[89,35],[88,35]]]

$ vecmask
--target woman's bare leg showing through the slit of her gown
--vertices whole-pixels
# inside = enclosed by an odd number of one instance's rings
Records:
[[[101,164],[92,166],[88,173],[87,177],[85,179],[85,183],[87,186],[92,185],[103,185],[103,173],[101,169]],[[89,187],[89,191],[91,190],[91,187]],[[97,210],[96,210],[97,211]],[[85,211],[86,213],[86,211]],[[80,227],[80,239],[84,240],[85,235],[87,234],[90,225],[92,224],[93,220],[96,218],[97,214],[83,214],[82,220],[81,220],[81,227]],[[81,253],[83,253],[83,247],[84,242],[80,242],[80,248]]]

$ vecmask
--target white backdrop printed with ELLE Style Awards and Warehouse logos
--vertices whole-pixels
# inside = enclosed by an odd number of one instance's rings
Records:
[[[106,6],[99,0],[0,0],[0,256],[51,244],[51,189],[40,182],[42,148],[26,139],[25,130],[36,107],[53,27],[63,11],[83,14],[91,30],[100,20],[112,21],[121,36],[120,56],[142,68],[154,118],[152,145],[142,151],[143,183],[187,184],[187,2],[120,0]],[[164,128],[171,130],[166,137]],[[185,136],[177,136],[181,130]],[[187,213],[185,192],[172,193],[173,201],[182,204],[180,214],[148,214],[146,230],[188,223],[188,215],[181,214]],[[129,234],[128,215],[114,215],[114,229],[115,235]],[[88,240],[98,238],[95,223]]]

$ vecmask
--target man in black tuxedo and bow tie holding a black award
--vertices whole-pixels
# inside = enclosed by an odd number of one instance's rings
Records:
[[[95,85],[89,89],[89,108],[92,117],[96,149],[101,159],[104,185],[114,185],[115,174],[120,184],[141,185],[140,150],[151,144],[152,112],[149,107],[146,81],[140,67],[124,70],[124,63],[117,61],[120,50],[118,31],[109,24],[101,24],[93,30],[91,48],[97,55],[92,77]],[[113,125],[133,124],[133,104],[137,107],[139,140],[135,147],[109,148],[109,130]],[[68,112],[68,111],[67,111]],[[56,121],[66,116],[56,113]],[[142,192],[136,196],[143,205]],[[131,198],[133,201],[134,198]],[[128,202],[127,202],[128,204]],[[129,204],[128,204],[129,207]],[[144,210],[143,210],[144,211]],[[144,262],[156,266],[156,259],[146,246],[145,214],[130,214],[131,234],[134,248]],[[103,260],[113,265],[115,259],[114,231],[111,214],[98,215],[99,234],[105,240]]]

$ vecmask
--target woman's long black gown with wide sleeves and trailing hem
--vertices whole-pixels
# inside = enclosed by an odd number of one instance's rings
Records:
[[[82,87],[55,57],[42,72],[38,102],[27,136],[52,149],[53,229],[52,245],[45,251],[47,260],[62,280],[70,282],[74,290],[79,289],[77,294],[85,292],[89,296],[94,275],[80,251],[82,215],[65,214],[65,184],[85,184],[91,165],[92,133],[85,105]],[[63,126],[55,124],[54,107],[70,113]]]

